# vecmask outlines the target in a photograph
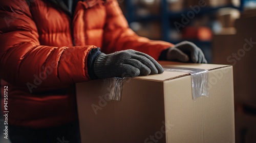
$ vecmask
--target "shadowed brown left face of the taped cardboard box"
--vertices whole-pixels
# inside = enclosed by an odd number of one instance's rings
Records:
[[[104,104],[102,93],[87,92],[98,82],[77,85],[82,142],[143,142],[162,126],[163,83],[132,79],[123,84],[122,101]],[[92,104],[101,108],[96,114]]]

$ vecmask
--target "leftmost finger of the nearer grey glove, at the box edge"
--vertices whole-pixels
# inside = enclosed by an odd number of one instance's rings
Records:
[[[140,70],[130,64],[121,64],[118,70],[120,71],[118,76],[121,77],[137,77],[140,75]]]

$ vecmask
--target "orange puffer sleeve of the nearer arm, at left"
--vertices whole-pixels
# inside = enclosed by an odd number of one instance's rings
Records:
[[[0,78],[13,85],[45,90],[87,81],[95,48],[40,45],[26,1],[0,1]]]

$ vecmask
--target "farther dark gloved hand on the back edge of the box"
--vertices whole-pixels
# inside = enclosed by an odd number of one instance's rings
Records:
[[[202,50],[188,41],[183,41],[170,47],[166,56],[169,61],[207,63]]]

